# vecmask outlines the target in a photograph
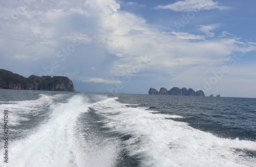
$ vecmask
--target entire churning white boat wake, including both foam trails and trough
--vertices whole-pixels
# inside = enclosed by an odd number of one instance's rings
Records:
[[[256,142],[220,138],[172,120],[181,116],[129,107],[103,95],[61,98],[2,103],[10,111],[13,136],[8,163],[2,159],[0,166],[130,166],[120,163],[129,157],[137,166],[256,164],[247,155],[256,151]],[[4,153],[3,142],[0,149]]]

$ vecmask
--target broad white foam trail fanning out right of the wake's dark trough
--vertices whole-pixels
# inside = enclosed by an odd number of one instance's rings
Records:
[[[256,142],[225,139],[166,118],[177,115],[151,113],[145,108],[125,107],[111,98],[93,109],[105,115],[106,127],[123,135],[131,156],[141,166],[256,166],[255,158],[236,149],[256,151]]]

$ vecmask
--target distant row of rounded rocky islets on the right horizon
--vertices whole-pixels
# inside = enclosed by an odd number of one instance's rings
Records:
[[[159,91],[154,88],[150,88],[148,94],[169,94],[169,95],[181,95],[181,96],[205,96],[203,90],[194,91],[193,89],[183,87],[182,89],[178,87],[173,87],[170,90],[162,87]]]

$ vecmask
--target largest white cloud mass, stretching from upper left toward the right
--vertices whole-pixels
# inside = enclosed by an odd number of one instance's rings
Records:
[[[237,40],[229,38],[205,41],[203,35],[160,32],[152,25],[148,25],[144,18],[121,11],[120,5],[112,0],[87,0],[83,5],[80,3],[67,1],[58,5],[53,4],[41,9],[45,12],[29,8],[27,12],[35,19],[24,21],[24,18],[20,17],[16,20],[19,24],[11,26],[7,31],[6,43],[13,42],[10,36],[13,40],[18,39],[24,43],[17,45],[17,51],[13,52],[19,53],[13,55],[36,53],[33,57],[51,57],[56,55],[61,47],[67,46],[67,42],[72,41],[77,35],[82,35],[83,44],[94,47],[96,45],[105,56],[114,55],[108,69],[105,70],[110,75],[120,76],[137,74],[150,68],[168,70],[172,73],[169,68],[176,66],[194,65],[199,62],[218,63],[222,57],[239,50]],[[79,19],[72,22],[74,18]],[[200,30],[212,36],[214,34],[211,31],[219,26],[220,24],[201,25]],[[28,31],[31,33],[24,33]],[[5,46],[0,47],[5,50]],[[83,55],[97,57],[87,53]],[[143,62],[144,55],[147,55],[150,61]]]

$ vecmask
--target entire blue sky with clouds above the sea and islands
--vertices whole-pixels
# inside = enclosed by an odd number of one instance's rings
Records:
[[[256,98],[256,1],[0,1],[0,68],[76,91]]]

